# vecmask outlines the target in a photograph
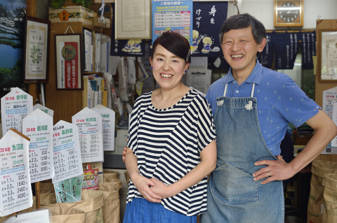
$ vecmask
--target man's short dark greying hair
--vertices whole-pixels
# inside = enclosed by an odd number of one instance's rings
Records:
[[[220,44],[223,43],[223,34],[227,33],[231,29],[245,29],[251,27],[251,31],[253,33],[253,37],[256,43],[260,44],[265,38],[265,27],[262,22],[256,20],[256,17],[249,15],[248,13],[232,15],[228,17],[225,22],[223,22],[223,26],[220,29]]]

